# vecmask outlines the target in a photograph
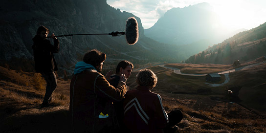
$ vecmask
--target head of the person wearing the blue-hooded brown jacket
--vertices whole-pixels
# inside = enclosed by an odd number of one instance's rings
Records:
[[[95,67],[98,72],[102,71],[103,62],[105,61],[105,59],[106,54],[98,51],[97,49],[90,50],[83,57],[83,61]]]

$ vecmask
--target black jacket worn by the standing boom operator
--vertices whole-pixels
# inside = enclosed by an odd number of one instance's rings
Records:
[[[59,51],[59,41],[54,40],[54,45],[47,39],[36,35],[33,39],[33,56],[36,72],[50,72],[58,70],[54,54]]]

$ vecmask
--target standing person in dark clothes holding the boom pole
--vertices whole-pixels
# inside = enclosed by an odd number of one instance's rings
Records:
[[[49,30],[42,25],[38,28],[37,35],[32,39],[35,70],[42,74],[47,83],[42,107],[49,105],[49,102],[52,99],[51,95],[57,88],[54,71],[58,70],[58,68],[55,62],[54,53],[59,52],[59,41],[53,33],[51,38],[54,40],[54,45],[52,45],[51,42],[46,39],[48,33]]]

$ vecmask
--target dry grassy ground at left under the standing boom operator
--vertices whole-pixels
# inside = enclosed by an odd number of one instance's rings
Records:
[[[55,92],[51,106],[41,108],[45,90],[0,85],[0,133],[70,133],[69,96]]]

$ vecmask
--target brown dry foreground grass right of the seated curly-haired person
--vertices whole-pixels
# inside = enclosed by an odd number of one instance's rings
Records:
[[[265,119],[230,118],[229,115],[222,117],[214,111],[195,111],[184,105],[173,105],[164,102],[167,112],[179,109],[183,112],[183,120],[177,124],[178,133],[265,133]],[[235,109],[229,109],[234,111]],[[229,113],[229,112],[228,112]]]

